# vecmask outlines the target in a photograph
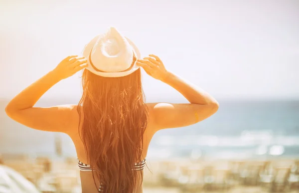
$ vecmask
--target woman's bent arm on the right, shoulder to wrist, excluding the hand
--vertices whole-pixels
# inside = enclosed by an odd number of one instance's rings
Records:
[[[167,72],[163,82],[180,92],[190,103],[150,103],[155,129],[193,125],[217,112],[219,104],[216,99],[198,86],[171,72]]]

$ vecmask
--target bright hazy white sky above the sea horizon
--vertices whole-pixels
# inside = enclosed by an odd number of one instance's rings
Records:
[[[299,99],[298,0],[0,0],[0,98],[116,27],[216,99]],[[185,100],[143,73],[148,101]],[[81,96],[80,72],[43,98]]]

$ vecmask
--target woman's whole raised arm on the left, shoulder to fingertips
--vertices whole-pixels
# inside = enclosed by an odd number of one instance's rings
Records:
[[[53,85],[86,67],[83,57],[69,56],[46,75],[16,95],[6,106],[6,114],[27,127],[64,132],[70,129],[76,108],[74,105],[34,108],[39,98]]]

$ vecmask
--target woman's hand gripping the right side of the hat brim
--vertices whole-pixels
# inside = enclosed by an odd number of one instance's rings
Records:
[[[137,60],[136,64],[143,67],[144,70],[151,77],[163,81],[167,77],[167,70],[159,57],[150,54],[149,57],[145,57],[143,60]]]

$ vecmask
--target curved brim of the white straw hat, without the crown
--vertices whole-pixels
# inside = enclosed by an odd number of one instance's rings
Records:
[[[137,48],[137,46],[127,37],[125,37],[127,39],[127,41],[129,42],[129,44],[132,46],[133,51],[135,52],[135,56],[137,59],[141,59],[141,54],[139,49]],[[88,45],[86,45],[86,47],[84,48],[83,51],[83,56],[88,60],[88,55],[91,52],[91,49],[93,48],[94,44],[95,44],[95,40],[97,40],[97,38],[94,38]],[[93,67],[91,66],[91,64],[89,63],[89,60],[87,61],[88,67],[86,67],[86,69],[88,69],[89,71],[91,71],[94,74],[97,74],[99,76],[104,76],[104,77],[122,77],[122,76],[127,76],[133,72],[135,72],[137,69],[139,69],[140,66],[136,65],[136,62],[134,63],[133,67],[128,70],[128,71],[122,71],[122,72],[99,72],[96,71],[95,69],[93,69]]]

